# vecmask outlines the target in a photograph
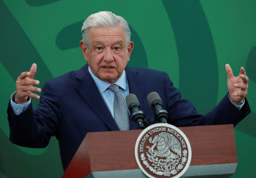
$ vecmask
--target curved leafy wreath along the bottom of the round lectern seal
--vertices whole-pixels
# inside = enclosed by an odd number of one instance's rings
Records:
[[[176,168],[174,168],[174,169],[172,169],[171,171],[168,171],[168,172],[156,171],[155,168],[150,166],[150,164],[148,163],[148,161],[145,158],[144,153],[140,154],[140,160],[154,174],[156,174],[156,175],[164,175],[165,177],[167,177],[167,176],[170,176],[171,174],[172,175],[177,174],[180,171],[180,169],[182,169],[184,167],[185,162],[187,161],[187,156],[188,156],[187,154],[188,154],[188,151],[187,150],[183,150],[182,151],[181,163]]]

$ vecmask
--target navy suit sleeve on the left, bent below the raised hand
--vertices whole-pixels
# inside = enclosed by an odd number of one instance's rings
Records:
[[[57,133],[61,117],[60,97],[47,82],[35,110],[31,103],[27,110],[16,115],[9,102],[7,113],[10,128],[9,139],[12,143],[30,148],[44,148],[48,145],[51,136]]]

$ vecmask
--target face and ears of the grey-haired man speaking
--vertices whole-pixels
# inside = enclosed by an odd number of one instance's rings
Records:
[[[92,73],[102,81],[116,82],[130,60],[133,43],[126,46],[124,30],[121,27],[91,27],[89,44],[80,41],[84,60]]]

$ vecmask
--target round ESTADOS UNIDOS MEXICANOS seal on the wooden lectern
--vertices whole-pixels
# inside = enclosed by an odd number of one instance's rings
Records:
[[[179,128],[154,124],[139,135],[135,158],[142,172],[150,178],[178,178],[188,169],[191,147]]]

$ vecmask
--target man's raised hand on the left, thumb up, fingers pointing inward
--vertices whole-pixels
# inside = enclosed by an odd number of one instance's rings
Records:
[[[40,88],[33,87],[33,85],[38,85],[39,81],[34,80],[36,74],[36,64],[32,64],[29,72],[22,72],[16,81],[16,93],[15,93],[15,103],[21,104],[26,103],[28,97],[33,97],[39,99],[40,96],[32,93],[31,91],[41,92]]]

